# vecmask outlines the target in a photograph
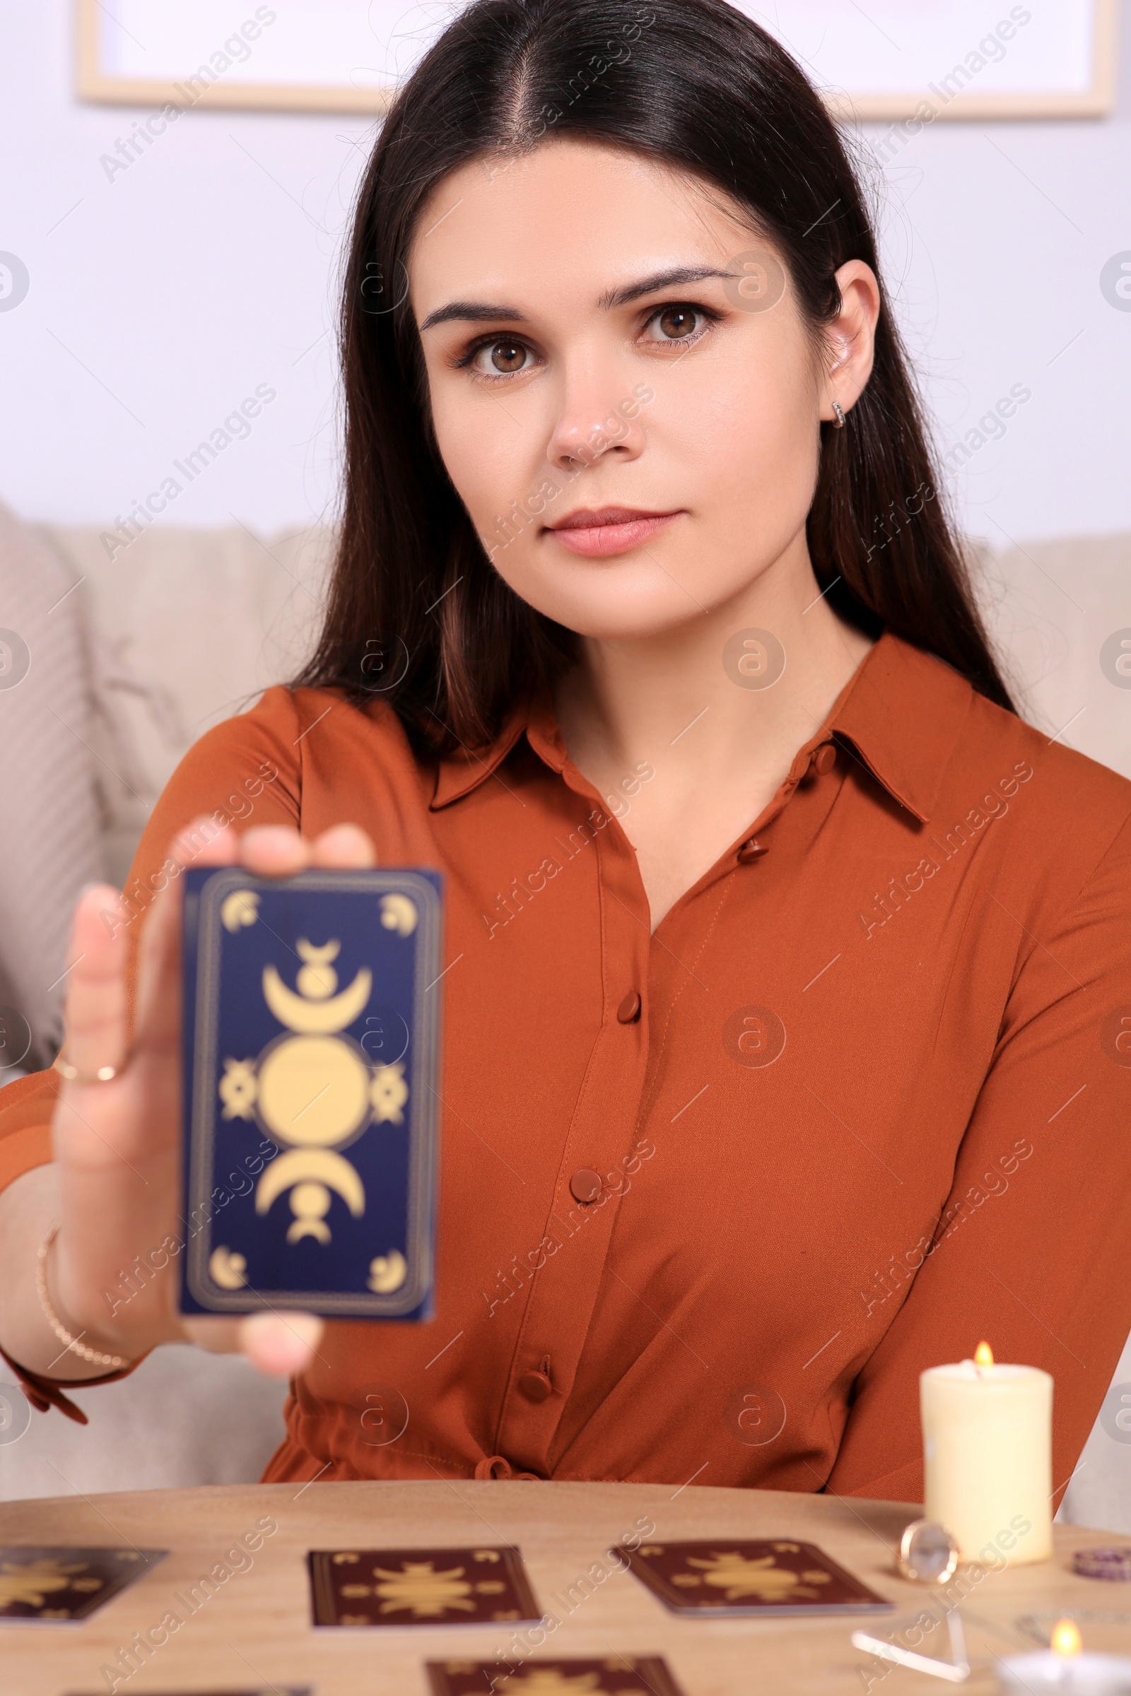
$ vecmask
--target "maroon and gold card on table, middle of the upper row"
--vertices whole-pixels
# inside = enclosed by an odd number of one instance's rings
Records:
[[[509,1547],[312,1548],[315,1625],[536,1625],[522,1555]]]

